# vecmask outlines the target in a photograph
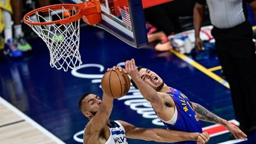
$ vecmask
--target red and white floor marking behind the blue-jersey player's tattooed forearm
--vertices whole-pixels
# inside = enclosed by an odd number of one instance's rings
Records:
[[[233,125],[239,126],[239,122],[237,122],[236,120],[231,120],[229,122],[231,122],[231,124]],[[208,127],[203,127],[203,132],[208,132],[210,137],[215,137],[216,135],[228,133],[228,130],[222,125],[215,124],[215,125],[210,125]]]

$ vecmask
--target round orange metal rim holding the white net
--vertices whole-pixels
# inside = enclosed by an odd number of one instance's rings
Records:
[[[55,20],[55,21],[52,21],[52,22],[29,22],[27,20],[27,17],[29,17],[30,15],[33,15],[35,14],[36,12],[47,12],[49,11],[49,9],[51,10],[61,10],[62,7],[64,7],[66,10],[73,10],[73,8],[77,8],[77,14],[75,15],[72,15],[70,17],[67,17],[65,19],[61,19],[61,20]],[[79,20],[82,18],[82,7],[81,6],[78,6],[77,4],[55,4],[55,5],[51,5],[51,6],[45,6],[45,7],[40,7],[38,9],[35,9],[31,12],[28,12],[24,17],[23,17],[23,21],[25,23],[27,23],[28,25],[51,25],[51,24],[54,24],[54,23],[59,23],[61,25],[64,25],[66,23],[71,23],[71,22],[74,22],[75,20]]]

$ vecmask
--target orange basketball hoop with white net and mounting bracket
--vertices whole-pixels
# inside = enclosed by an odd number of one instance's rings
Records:
[[[57,69],[79,68],[80,19],[89,25],[100,23],[100,2],[90,0],[80,4],[56,4],[28,12],[23,20],[45,41],[50,54],[50,66]],[[45,19],[56,15],[58,20]]]

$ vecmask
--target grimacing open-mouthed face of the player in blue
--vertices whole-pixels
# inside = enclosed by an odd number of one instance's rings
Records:
[[[148,83],[152,88],[154,88],[156,91],[160,90],[163,87],[163,80],[159,75],[157,75],[155,72],[151,71],[150,69],[142,68],[139,71],[140,78],[145,83]]]

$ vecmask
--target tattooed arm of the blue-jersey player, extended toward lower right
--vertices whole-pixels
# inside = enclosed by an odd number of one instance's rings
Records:
[[[247,137],[247,135],[245,135],[245,133],[242,132],[242,130],[240,130],[236,125],[233,125],[225,119],[216,116],[200,104],[192,103],[192,106],[194,111],[197,113],[198,119],[202,121],[213,122],[215,124],[223,125],[224,127],[226,127],[226,129],[229,130],[229,132],[231,132],[234,135],[235,138],[245,139],[245,137]]]

